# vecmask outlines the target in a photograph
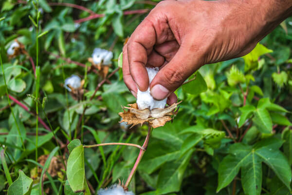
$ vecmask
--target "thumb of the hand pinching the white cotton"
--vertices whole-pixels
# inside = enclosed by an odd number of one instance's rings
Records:
[[[201,67],[202,61],[195,57],[188,47],[181,45],[176,55],[153,78],[150,83],[150,93],[153,98],[161,100],[168,97],[183,82]]]

